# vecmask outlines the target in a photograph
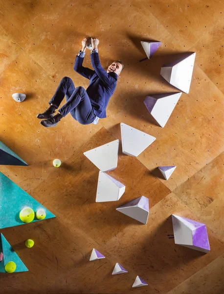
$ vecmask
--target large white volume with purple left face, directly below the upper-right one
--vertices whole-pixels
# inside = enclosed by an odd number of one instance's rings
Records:
[[[145,106],[161,127],[164,127],[169,120],[181,94],[181,92],[157,94],[145,98]]]

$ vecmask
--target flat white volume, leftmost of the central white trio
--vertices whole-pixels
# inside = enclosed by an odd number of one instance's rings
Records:
[[[102,172],[109,172],[117,167],[119,140],[96,147],[83,154]]]

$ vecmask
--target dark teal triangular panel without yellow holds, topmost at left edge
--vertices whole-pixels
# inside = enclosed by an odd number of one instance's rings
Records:
[[[0,165],[22,165],[27,166],[15,152],[13,152],[9,147],[0,142]]]

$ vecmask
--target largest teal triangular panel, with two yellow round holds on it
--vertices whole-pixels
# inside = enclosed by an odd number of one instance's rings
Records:
[[[49,210],[0,172],[0,229],[25,224],[19,217],[24,207],[32,208],[35,213],[40,208],[45,209],[44,220],[55,218]],[[34,221],[39,220],[35,217],[32,222]]]

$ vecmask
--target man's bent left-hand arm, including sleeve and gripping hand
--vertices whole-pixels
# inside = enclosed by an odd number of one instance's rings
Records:
[[[83,66],[83,60],[84,60],[84,56],[85,56],[86,48],[87,48],[87,38],[85,38],[82,41],[82,46],[83,46],[82,50],[79,51],[79,53],[75,59],[74,71],[76,71],[77,73],[81,74],[82,76],[90,79],[95,72],[93,70],[91,70],[89,68],[85,68]]]

